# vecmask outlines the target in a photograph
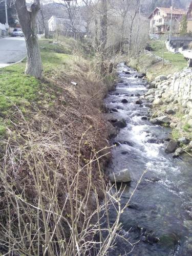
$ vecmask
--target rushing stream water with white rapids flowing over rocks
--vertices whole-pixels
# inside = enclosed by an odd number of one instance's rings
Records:
[[[130,74],[125,74],[129,71]],[[136,104],[146,89],[146,81],[136,77],[135,70],[121,64],[117,68],[123,82],[105,99],[109,118],[126,120],[127,126],[113,139],[118,146],[112,150],[109,170],[130,170],[132,181],[126,184],[122,205],[147,168],[134,194],[130,207],[124,210],[121,223],[129,232],[130,242],[137,243],[129,255],[192,255],[192,158],[173,158],[165,153],[170,129],[146,120],[148,106]],[[128,103],[121,103],[126,99]],[[111,221],[115,210],[111,209]],[[127,255],[132,248],[117,241],[110,255]]]

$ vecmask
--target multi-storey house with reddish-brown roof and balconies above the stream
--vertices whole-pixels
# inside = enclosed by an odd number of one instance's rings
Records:
[[[185,14],[185,11],[181,9],[157,7],[150,16],[148,16],[148,19],[150,19],[150,34],[164,34],[166,31],[169,31],[171,19],[172,31],[173,33],[177,33],[179,23]]]

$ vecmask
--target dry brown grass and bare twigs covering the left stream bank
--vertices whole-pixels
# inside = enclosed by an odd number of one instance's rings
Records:
[[[77,57],[70,69],[47,77],[49,97],[25,112],[13,104],[11,126],[1,140],[5,255],[105,255],[114,246],[121,206],[103,174],[110,147],[101,113],[111,67],[101,77],[90,63]],[[110,226],[114,202],[118,218]]]

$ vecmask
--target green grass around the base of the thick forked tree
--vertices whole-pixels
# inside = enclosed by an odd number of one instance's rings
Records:
[[[52,77],[58,68],[65,67],[73,57],[73,44],[70,39],[66,45],[53,45],[50,40],[40,40],[41,58],[46,77]],[[9,116],[14,111],[14,105],[23,113],[31,102],[37,105],[45,100],[52,105],[55,98],[53,84],[44,83],[35,77],[25,75],[26,60],[16,65],[0,69],[0,136],[5,133],[9,124]]]

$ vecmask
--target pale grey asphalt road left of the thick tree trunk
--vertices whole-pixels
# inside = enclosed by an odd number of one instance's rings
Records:
[[[0,38],[0,68],[15,63],[26,56],[24,37]]]

